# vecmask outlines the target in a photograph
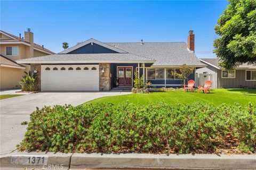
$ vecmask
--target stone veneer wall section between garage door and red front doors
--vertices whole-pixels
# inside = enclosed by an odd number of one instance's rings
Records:
[[[102,70],[104,72],[102,73]],[[99,87],[100,91],[109,91],[111,89],[110,86],[110,63],[99,63],[99,72],[100,72],[100,80]]]

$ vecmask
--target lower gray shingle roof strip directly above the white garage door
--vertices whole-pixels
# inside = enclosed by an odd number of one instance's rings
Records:
[[[138,55],[133,55],[129,53],[103,53],[103,54],[54,54],[46,55],[42,57],[33,57],[23,60],[18,60],[19,63],[26,62],[51,62],[51,61],[147,61],[154,63],[154,60],[149,58],[141,57]]]

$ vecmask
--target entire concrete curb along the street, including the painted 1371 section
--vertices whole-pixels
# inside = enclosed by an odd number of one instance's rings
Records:
[[[35,162],[33,162],[33,157],[36,159]],[[15,152],[1,155],[0,159],[1,168],[255,169],[256,167],[256,155],[63,154],[60,152]],[[44,162],[42,162],[42,160],[44,160]],[[48,165],[52,167],[49,168]]]

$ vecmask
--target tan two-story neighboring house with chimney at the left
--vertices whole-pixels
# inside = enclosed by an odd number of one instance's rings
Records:
[[[25,58],[54,54],[50,50],[34,43],[33,32],[25,32],[25,38],[11,35],[0,30],[0,78],[1,89],[19,88],[19,81],[29,65],[17,64],[15,61]]]

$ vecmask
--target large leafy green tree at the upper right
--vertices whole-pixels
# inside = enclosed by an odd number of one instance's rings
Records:
[[[220,36],[214,40],[214,53],[221,66],[256,64],[256,0],[229,0],[214,29]]]

